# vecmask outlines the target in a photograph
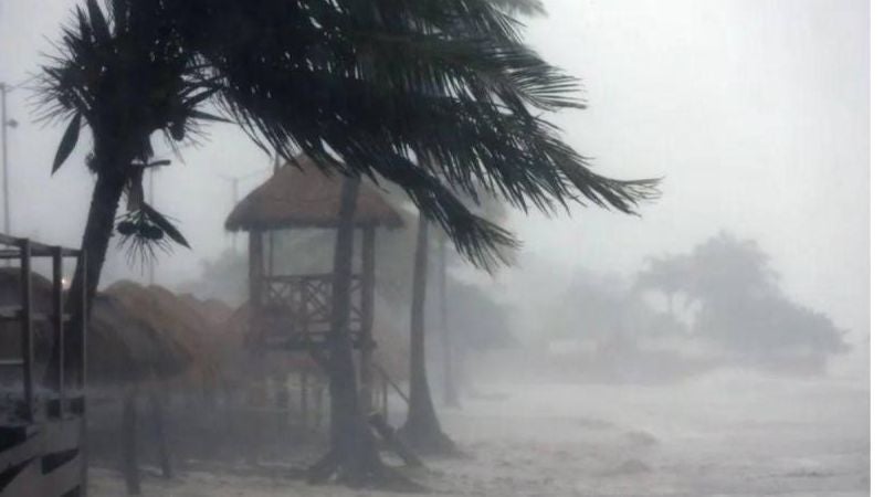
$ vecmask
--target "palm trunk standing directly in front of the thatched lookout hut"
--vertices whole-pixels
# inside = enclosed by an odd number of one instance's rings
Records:
[[[328,377],[332,399],[329,437],[332,451],[311,468],[311,479],[328,479],[339,469],[340,479],[354,486],[386,478],[386,467],[375,436],[362,415],[349,336],[352,239],[359,179],[347,178],[341,187],[340,215],[335,241],[332,281],[332,330],[328,334]]]

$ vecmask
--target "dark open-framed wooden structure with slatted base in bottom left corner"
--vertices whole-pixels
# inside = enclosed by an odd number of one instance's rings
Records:
[[[65,260],[82,257],[77,250],[0,235],[0,258],[13,264],[0,276],[7,283],[0,289],[0,367],[8,389],[0,404],[0,495],[85,493],[86,350],[48,353],[53,345],[64,350],[64,340],[85,343],[85,322],[72,326],[66,313],[85,302],[65,307],[63,277]],[[39,261],[49,262],[51,281],[33,273]],[[55,387],[39,388],[50,361]]]

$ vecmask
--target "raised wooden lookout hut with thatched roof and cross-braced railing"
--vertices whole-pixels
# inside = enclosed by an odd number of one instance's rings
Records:
[[[323,172],[312,159],[301,156],[296,163],[278,168],[228,216],[228,230],[249,233],[248,346],[252,349],[308,351],[324,346],[330,330],[333,274],[281,274],[274,264],[272,240],[284,230],[335,230],[341,183],[339,176]],[[400,228],[402,219],[375,188],[362,182],[355,224],[361,233],[361,251],[359,271],[350,284],[349,331],[360,351],[362,400],[370,406],[376,233],[378,228]]]

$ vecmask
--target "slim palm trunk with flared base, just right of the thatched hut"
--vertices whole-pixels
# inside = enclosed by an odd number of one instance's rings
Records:
[[[418,246],[414,250],[414,274],[411,290],[411,343],[409,366],[409,405],[400,433],[409,445],[424,454],[451,453],[454,444],[442,433],[435,415],[430,383],[427,380],[424,348],[424,305],[427,303],[428,221],[418,222]]]

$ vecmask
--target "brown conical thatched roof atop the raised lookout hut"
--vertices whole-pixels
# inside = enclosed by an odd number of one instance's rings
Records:
[[[230,231],[335,228],[340,210],[341,177],[323,172],[307,156],[281,167],[249,193],[228,216]],[[365,181],[356,203],[357,226],[399,228],[402,220],[381,194]]]

